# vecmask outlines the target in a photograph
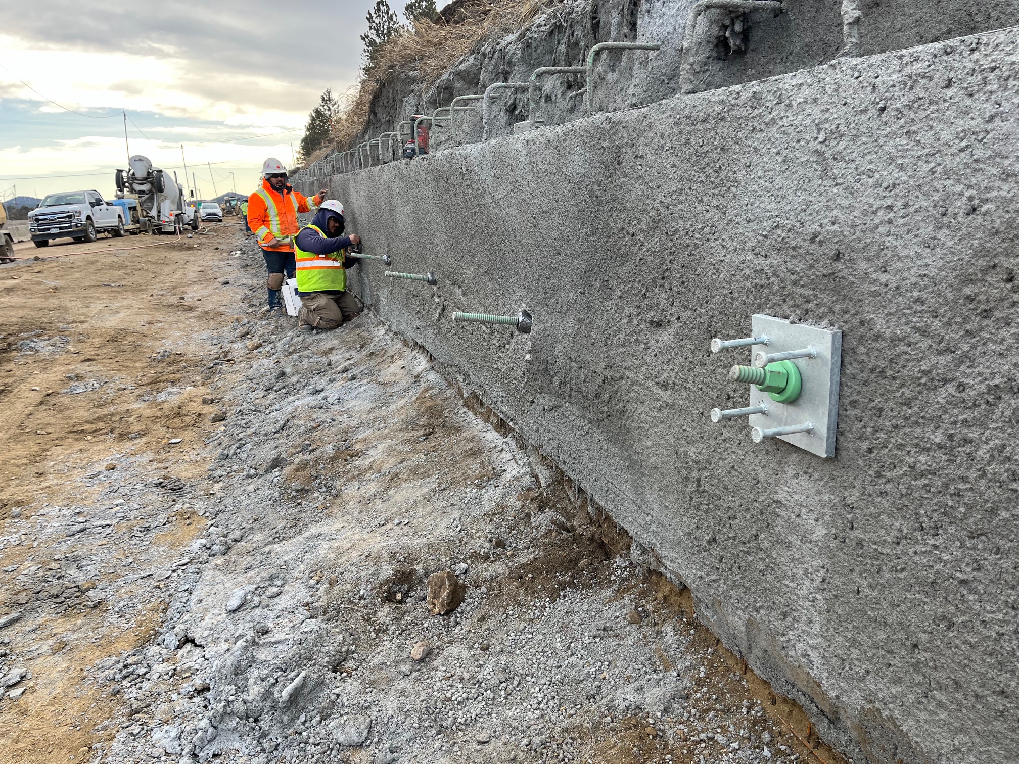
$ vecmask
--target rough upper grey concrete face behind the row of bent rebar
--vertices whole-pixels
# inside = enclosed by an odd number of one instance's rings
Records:
[[[786,0],[782,12],[708,9],[696,20],[685,50],[696,5],[697,0],[568,0],[523,32],[480,45],[431,88],[406,75],[384,85],[358,143],[394,129],[412,114],[431,114],[454,96],[483,93],[493,83],[527,81],[539,66],[583,66],[596,43],[661,45],[657,52],[600,54],[593,108],[611,111],[810,68],[841,55],[882,53],[1019,24],[1019,0]],[[538,116],[547,124],[581,118],[583,100],[576,94],[583,87],[583,76],[544,77]],[[504,92],[493,105],[491,135],[511,134],[514,123],[530,117],[526,91]],[[455,141],[440,122],[433,129],[435,148],[482,140],[480,110],[455,118]]]

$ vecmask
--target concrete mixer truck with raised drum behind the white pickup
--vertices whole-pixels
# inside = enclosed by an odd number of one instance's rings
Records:
[[[183,192],[170,177],[153,167],[148,157],[136,154],[127,160],[128,169],[117,170],[117,199],[133,200],[128,230],[173,233],[178,227],[198,230],[199,220],[194,208],[184,205]]]

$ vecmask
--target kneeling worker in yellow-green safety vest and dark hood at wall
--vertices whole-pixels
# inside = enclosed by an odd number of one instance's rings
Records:
[[[346,250],[361,237],[342,235],[343,225],[343,205],[330,199],[294,239],[303,332],[336,329],[361,315],[358,298],[346,291],[346,269],[360,262],[346,257]]]

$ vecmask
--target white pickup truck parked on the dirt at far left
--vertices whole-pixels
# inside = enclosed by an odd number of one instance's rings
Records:
[[[124,222],[123,210],[107,204],[99,192],[63,192],[48,195],[29,213],[29,233],[36,247],[64,236],[95,241],[99,233],[124,235]]]

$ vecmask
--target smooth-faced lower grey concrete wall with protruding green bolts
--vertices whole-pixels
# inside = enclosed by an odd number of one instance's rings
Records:
[[[354,281],[857,761],[1019,761],[1019,28],[327,181]],[[534,316],[534,331],[454,310]],[[708,351],[843,330],[838,444],[756,445]]]

